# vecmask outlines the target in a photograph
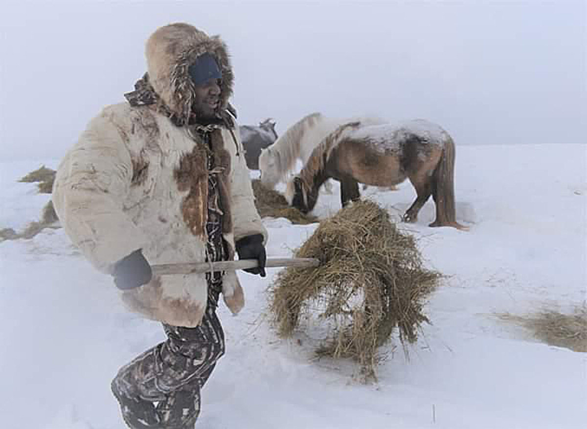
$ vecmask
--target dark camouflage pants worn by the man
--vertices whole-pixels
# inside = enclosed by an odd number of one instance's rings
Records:
[[[131,429],[194,428],[200,390],[224,354],[216,315],[221,281],[208,282],[208,307],[200,326],[163,324],[167,340],[120,369],[112,392]]]

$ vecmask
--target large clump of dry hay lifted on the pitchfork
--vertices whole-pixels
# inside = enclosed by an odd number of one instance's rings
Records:
[[[291,336],[303,313],[318,312],[334,329],[317,352],[352,357],[364,381],[375,379],[377,347],[394,328],[407,352],[405,342],[415,342],[429,322],[424,300],[441,275],[423,267],[413,236],[375,202],[356,202],[321,221],[295,256],[320,265],[279,272],[270,305],[279,335]]]

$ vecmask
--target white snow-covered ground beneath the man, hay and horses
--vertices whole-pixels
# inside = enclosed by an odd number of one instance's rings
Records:
[[[37,220],[49,195],[16,180],[42,163],[0,164],[0,228]],[[470,231],[417,224],[427,264],[448,276],[431,296],[410,359],[393,344],[379,381],[353,381],[356,366],[315,360],[312,339],[280,340],[269,325],[266,278],[239,273],[247,306],[224,306],[227,354],[203,390],[205,429],[584,428],[586,354],[548,346],[495,313],[585,302],[587,145],[457,146],[457,219]],[[401,214],[414,197],[369,188]],[[339,208],[338,186],[315,213]],[[316,228],[264,219],[269,256],[288,256]],[[0,243],[2,429],[119,429],[110,380],[164,339],[158,323],[128,313],[107,276],[72,247],[63,229]],[[303,339],[303,334],[301,334]]]

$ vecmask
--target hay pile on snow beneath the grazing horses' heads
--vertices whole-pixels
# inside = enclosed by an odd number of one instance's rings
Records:
[[[305,215],[295,207],[291,207],[279,192],[266,188],[260,180],[251,180],[253,193],[255,194],[255,207],[259,216],[286,218],[292,224],[312,224],[318,222],[318,218]]]

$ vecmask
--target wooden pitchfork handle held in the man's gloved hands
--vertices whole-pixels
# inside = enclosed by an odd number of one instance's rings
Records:
[[[151,265],[154,276],[167,274],[190,274],[214,271],[231,271],[237,269],[255,268],[258,266],[257,259],[240,259],[239,261],[217,261],[217,262],[187,262],[185,264],[157,264]],[[295,266],[299,268],[307,266],[318,266],[320,261],[315,258],[268,258],[265,268],[276,266]]]

